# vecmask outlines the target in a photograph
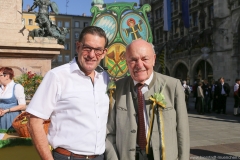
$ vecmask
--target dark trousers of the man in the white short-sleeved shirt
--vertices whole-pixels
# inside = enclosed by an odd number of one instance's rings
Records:
[[[73,156],[65,156],[65,155],[62,155],[58,152],[55,152],[54,150],[52,151],[52,155],[53,155],[54,160],[87,160],[85,158],[76,158],[76,157],[73,157]],[[96,158],[93,158],[91,160],[104,160],[104,155],[103,154],[99,155]]]

